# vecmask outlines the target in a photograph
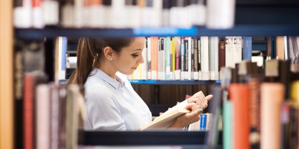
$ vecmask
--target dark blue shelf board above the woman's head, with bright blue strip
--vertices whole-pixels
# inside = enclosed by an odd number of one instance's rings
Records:
[[[191,27],[188,29],[161,27],[139,29],[77,29],[46,27],[44,29],[15,29],[15,36],[24,39],[54,38],[57,36],[80,37],[134,37],[134,36],[296,36],[299,34],[297,24],[240,24],[232,29],[208,29]]]

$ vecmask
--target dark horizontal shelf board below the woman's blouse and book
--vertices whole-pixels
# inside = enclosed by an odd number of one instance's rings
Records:
[[[193,145],[202,148],[207,132],[146,131],[105,132],[79,131],[79,145]],[[85,139],[84,138],[90,138]],[[222,136],[219,136],[221,144]],[[197,148],[198,149],[198,148]],[[201,149],[201,148],[200,148]]]

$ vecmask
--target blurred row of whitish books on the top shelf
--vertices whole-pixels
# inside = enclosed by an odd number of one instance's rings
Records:
[[[230,28],[234,13],[235,0],[16,0],[14,26]]]

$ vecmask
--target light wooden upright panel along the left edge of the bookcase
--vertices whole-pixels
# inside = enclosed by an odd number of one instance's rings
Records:
[[[12,1],[0,1],[0,149],[13,149]]]

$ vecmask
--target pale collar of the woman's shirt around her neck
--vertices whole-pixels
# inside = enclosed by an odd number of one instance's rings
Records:
[[[123,79],[121,79],[119,76],[115,74],[116,79],[110,77],[108,74],[104,73],[100,69],[93,68],[90,75],[96,75],[100,78],[102,78],[104,81],[109,83],[111,86],[113,86],[116,89],[119,89],[120,87],[123,87],[125,85],[125,82]]]

